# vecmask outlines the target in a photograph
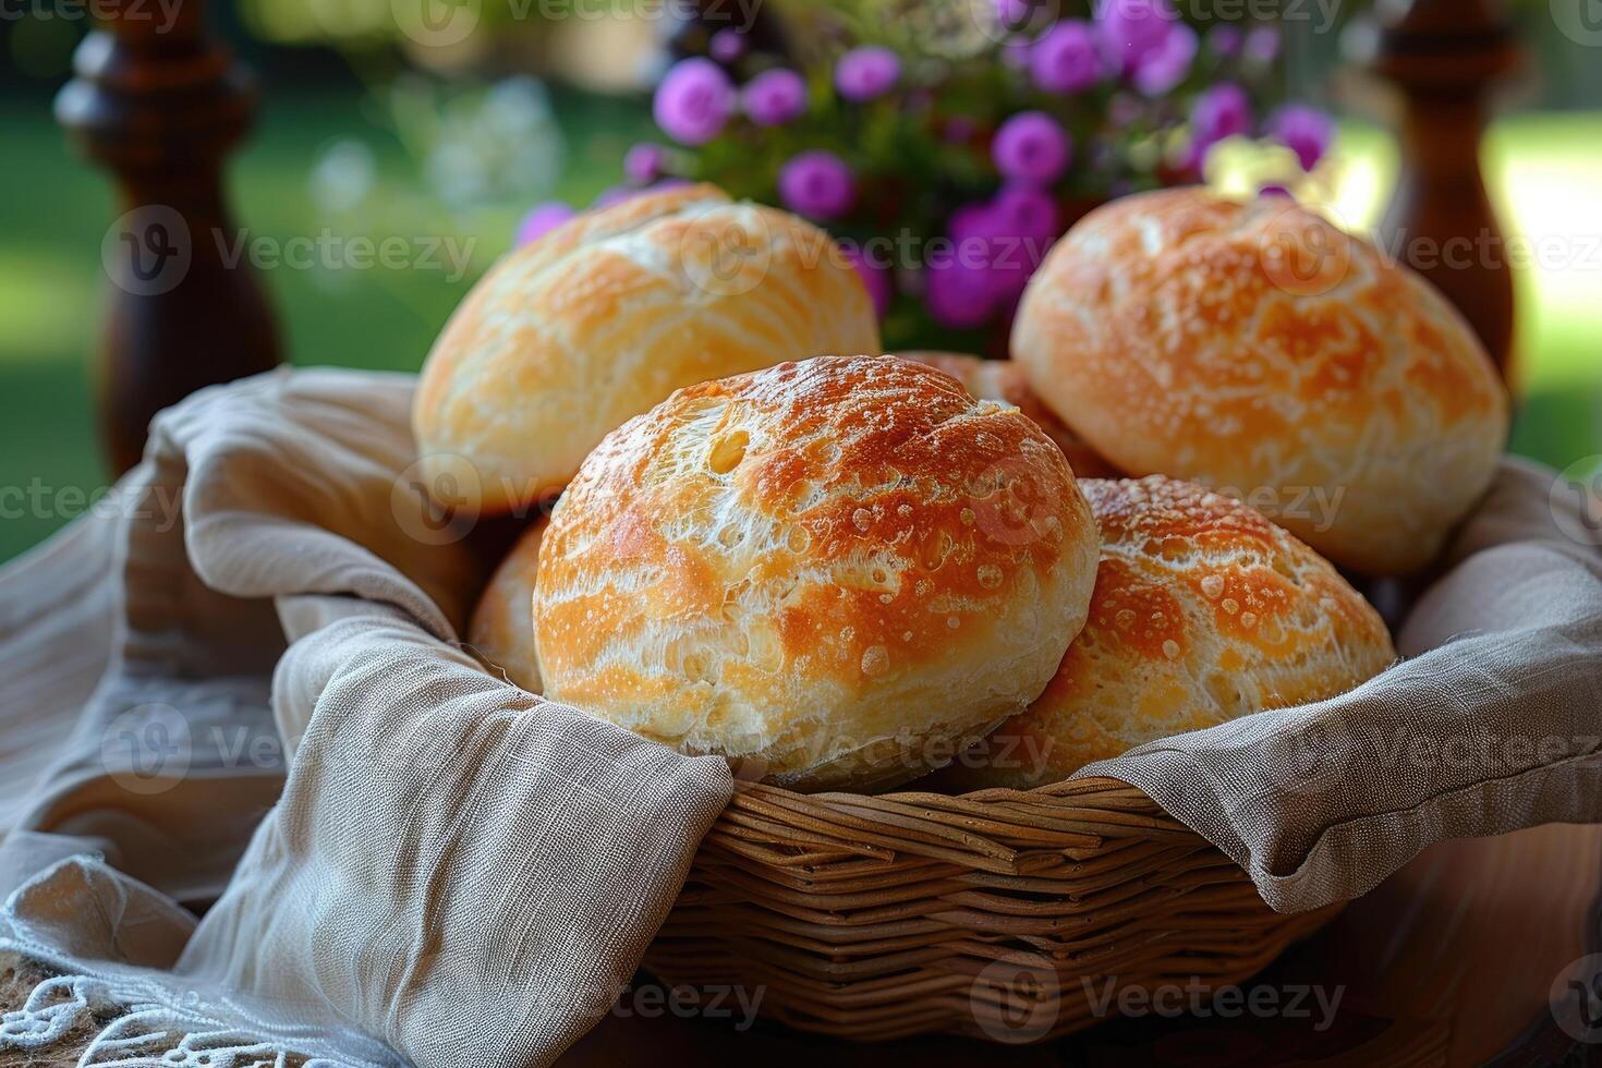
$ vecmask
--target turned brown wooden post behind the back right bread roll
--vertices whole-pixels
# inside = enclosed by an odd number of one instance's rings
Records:
[[[1387,0],[1368,30],[1357,59],[1395,88],[1402,149],[1379,239],[1458,306],[1506,376],[1512,269],[1479,152],[1517,35],[1496,0]]]

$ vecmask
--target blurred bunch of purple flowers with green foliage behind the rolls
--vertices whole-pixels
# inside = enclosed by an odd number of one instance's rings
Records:
[[[1171,0],[1078,6],[836,0],[787,11],[779,46],[732,26],[694,35],[700,54],[654,98],[668,144],[634,146],[604,199],[695,179],[782,205],[836,237],[889,347],[1001,352],[1024,285],[1085,211],[1200,181],[1237,136],[1286,146],[1269,189],[1290,186],[1334,130],[1275,91],[1274,24],[1189,21]],[[537,208],[521,240],[567,215]]]

